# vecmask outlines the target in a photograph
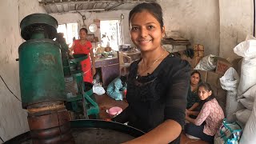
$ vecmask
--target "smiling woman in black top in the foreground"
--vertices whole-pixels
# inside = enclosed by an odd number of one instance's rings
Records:
[[[127,143],[180,143],[185,123],[190,65],[166,52],[162,8],[141,3],[129,14],[130,36],[141,58],[130,65],[126,100],[129,106],[116,122],[147,132]]]

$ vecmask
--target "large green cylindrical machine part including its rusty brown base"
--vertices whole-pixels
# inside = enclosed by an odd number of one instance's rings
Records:
[[[66,106],[60,45],[53,39],[58,22],[48,14],[30,14],[20,23],[18,48],[22,108],[33,143],[74,143]]]

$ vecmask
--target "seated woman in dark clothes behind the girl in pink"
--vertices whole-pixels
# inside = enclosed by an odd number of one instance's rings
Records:
[[[186,97],[186,112],[193,111],[199,106],[198,84],[201,82],[201,74],[198,71],[193,71],[190,75],[190,86]],[[200,109],[199,109],[200,110]]]

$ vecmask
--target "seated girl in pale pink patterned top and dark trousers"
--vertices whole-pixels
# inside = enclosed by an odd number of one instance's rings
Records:
[[[190,123],[185,125],[185,133],[201,138],[203,141],[214,143],[214,135],[224,119],[222,107],[218,105],[208,83],[199,84],[198,96],[201,99],[202,110],[196,119],[190,118],[190,114],[186,113],[186,120]]]

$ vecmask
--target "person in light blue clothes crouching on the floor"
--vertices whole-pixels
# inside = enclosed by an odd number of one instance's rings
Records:
[[[122,101],[122,98],[125,97],[125,91],[126,77],[121,76],[120,78],[115,78],[112,82],[110,82],[109,86],[107,86],[106,94],[117,101]]]

